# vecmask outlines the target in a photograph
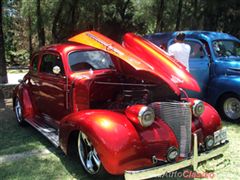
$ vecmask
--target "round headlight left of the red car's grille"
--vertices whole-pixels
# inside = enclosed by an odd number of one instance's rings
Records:
[[[143,127],[151,126],[155,119],[155,113],[152,108],[143,106],[138,113],[138,120]]]

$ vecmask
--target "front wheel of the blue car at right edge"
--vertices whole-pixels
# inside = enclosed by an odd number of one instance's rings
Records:
[[[218,110],[224,120],[239,122],[240,98],[235,94],[224,95],[220,99]]]

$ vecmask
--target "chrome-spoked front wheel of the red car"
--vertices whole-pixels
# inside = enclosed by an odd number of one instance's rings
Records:
[[[81,164],[89,175],[98,178],[107,176],[108,173],[102,166],[94,146],[83,132],[79,132],[78,135],[78,153]]]

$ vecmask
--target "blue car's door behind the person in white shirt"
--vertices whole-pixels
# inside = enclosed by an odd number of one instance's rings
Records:
[[[168,46],[171,45],[174,40],[170,40]],[[189,71],[193,77],[197,80],[201,92],[187,91],[190,97],[197,97],[204,99],[207,93],[208,81],[209,81],[209,64],[210,59],[201,41],[197,39],[186,38],[185,43],[191,47],[189,57]]]

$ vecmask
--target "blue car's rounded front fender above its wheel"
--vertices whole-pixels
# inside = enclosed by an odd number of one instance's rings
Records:
[[[216,107],[219,97],[224,93],[240,96],[240,76],[227,75],[212,79],[209,83],[207,101]]]

